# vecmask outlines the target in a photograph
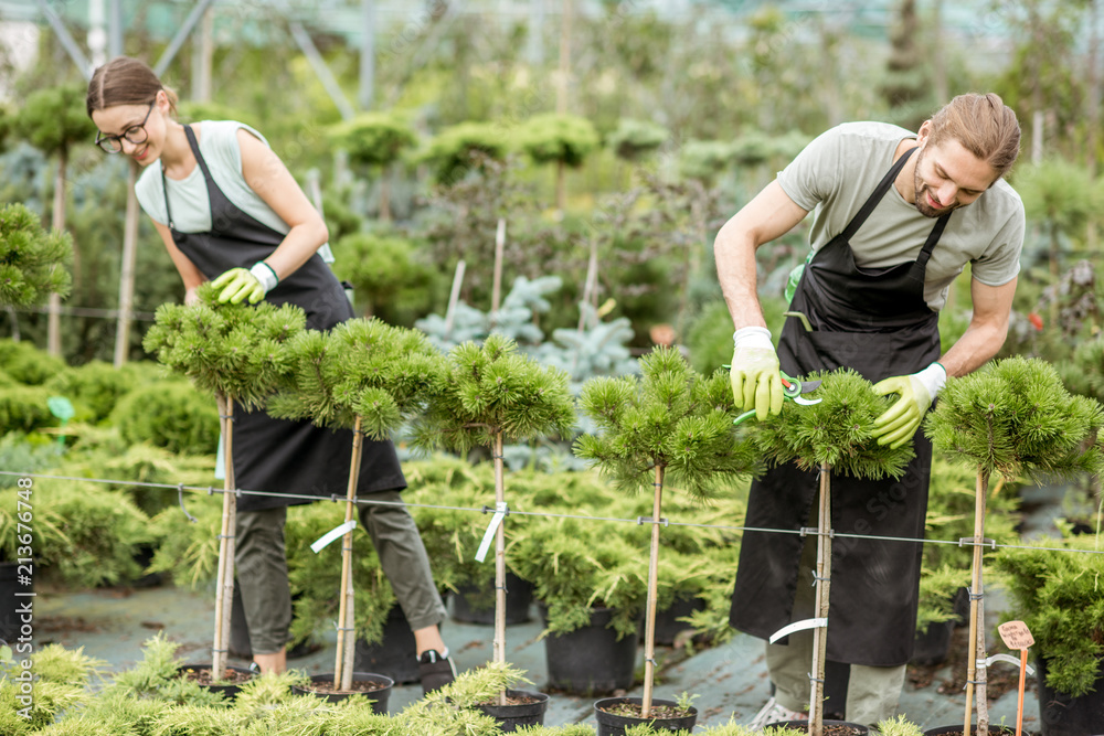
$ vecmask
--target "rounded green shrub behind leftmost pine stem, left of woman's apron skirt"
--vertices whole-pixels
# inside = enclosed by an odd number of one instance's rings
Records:
[[[128,442],[149,442],[170,452],[213,452],[219,442],[219,410],[187,381],[141,386],[118,403],[112,422]]]

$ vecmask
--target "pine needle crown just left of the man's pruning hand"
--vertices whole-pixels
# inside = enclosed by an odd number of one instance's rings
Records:
[[[728,373],[705,377],[678,350],[660,348],[637,376],[583,384],[580,406],[598,427],[574,451],[625,491],[650,488],[655,469],[697,498],[730,487],[756,466],[754,448],[737,440]]]

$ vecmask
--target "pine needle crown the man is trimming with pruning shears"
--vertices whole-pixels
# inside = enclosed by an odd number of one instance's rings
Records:
[[[877,480],[901,478],[914,457],[911,444],[898,449],[879,445],[871,435],[877,419],[894,397],[878,396],[869,381],[851,369],[815,372],[807,380],[821,380],[806,394],[819,404],[783,404],[782,414],[765,422],[749,423],[751,437],[772,462],[795,462],[805,470],[827,463],[834,473]]]

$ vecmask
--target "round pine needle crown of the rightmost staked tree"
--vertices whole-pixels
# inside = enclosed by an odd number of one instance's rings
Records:
[[[1008,358],[947,382],[924,430],[948,459],[1017,477],[1100,472],[1104,409],[1040,359]]]

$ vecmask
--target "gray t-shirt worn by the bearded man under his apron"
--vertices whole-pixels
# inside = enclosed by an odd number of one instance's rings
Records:
[[[847,122],[821,134],[778,173],[783,191],[813,212],[814,253],[847,227],[906,138],[916,135],[885,122]],[[851,238],[856,265],[884,268],[915,260],[934,225],[934,218],[890,186]],[[1023,204],[1004,179],[957,210],[927,263],[927,306],[933,311],[943,308],[951,282],[967,263],[973,277],[986,286],[1012,280],[1020,269],[1023,228]]]

